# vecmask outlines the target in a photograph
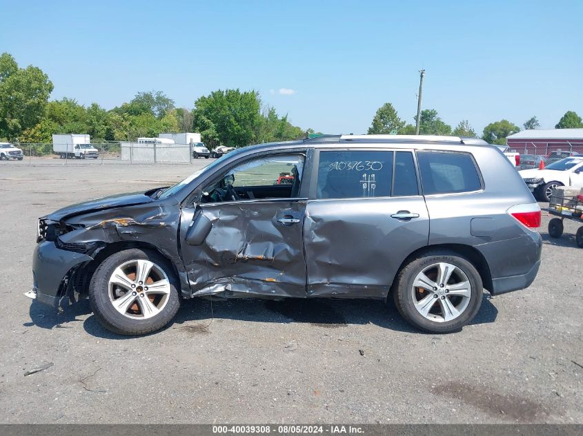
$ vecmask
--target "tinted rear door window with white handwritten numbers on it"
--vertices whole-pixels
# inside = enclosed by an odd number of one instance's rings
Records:
[[[393,152],[320,152],[317,198],[391,195]]]

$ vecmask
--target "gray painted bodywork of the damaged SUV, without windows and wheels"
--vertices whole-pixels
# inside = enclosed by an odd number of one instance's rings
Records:
[[[315,200],[310,157],[313,149],[346,146],[470,152],[479,163],[484,189],[409,198]],[[203,185],[242,161],[298,151],[308,154],[302,198],[197,203]],[[63,278],[89,271],[92,259],[99,258],[99,250],[112,243],[161,252],[177,270],[185,298],[382,298],[411,253],[444,244],[479,251],[493,279],[495,289],[489,290],[502,293],[528,286],[540,260],[542,244],[538,233],[506,214],[509,207],[534,203],[534,199],[504,154],[485,145],[416,143],[399,141],[398,137],[394,141],[322,138],[259,145],[224,156],[171,192],[160,199],[144,194],[101,199],[49,215],[48,218],[70,225],[84,226],[61,236],[63,242],[101,244],[95,252],[79,256],[48,249],[47,245],[55,245],[54,242],[41,242],[33,262],[34,276],[37,281],[43,280],[39,292],[58,297],[63,292],[58,285]],[[419,218],[407,222],[390,218],[393,211],[399,210],[415,211]],[[208,236],[199,245],[189,245],[188,231],[200,214],[211,223]],[[277,218],[286,214],[299,218],[298,225],[281,225]],[[475,218],[488,223],[473,224]]]

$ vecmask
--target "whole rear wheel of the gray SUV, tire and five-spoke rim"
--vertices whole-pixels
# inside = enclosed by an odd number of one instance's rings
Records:
[[[403,318],[431,333],[457,331],[482,304],[482,278],[457,253],[426,253],[403,267],[393,300]]]

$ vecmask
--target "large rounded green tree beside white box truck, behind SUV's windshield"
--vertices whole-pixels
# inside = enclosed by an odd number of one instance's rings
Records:
[[[255,91],[217,90],[195,102],[195,129],[201,132],[212,125],[221,145],[241,147],[255,140],[260,123],[259,94]],[[197,125],[198,122],[207,125]],[[210,122],[210,124],[208,124]]]

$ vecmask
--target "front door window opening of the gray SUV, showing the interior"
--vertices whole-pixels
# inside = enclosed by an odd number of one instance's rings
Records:
[[[203,189],[201,203],[297,198],[302,183],[304,156],[266,156],[243,163]]]

